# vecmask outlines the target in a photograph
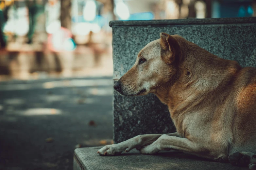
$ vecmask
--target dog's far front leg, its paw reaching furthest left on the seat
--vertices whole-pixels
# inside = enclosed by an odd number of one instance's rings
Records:
[[[167,134],[170,136],[179,136],[177,132]],[[101,156],[113,156],[121,154],[121,152],[129,152],[131,149],[134,148],[141,148],[146,145],[149,145],[156,141],[162,134],[147,134],[147,135],[138,135],[131,139],[128,139],[124,142],[118,144],[107,145],[97,151]]]

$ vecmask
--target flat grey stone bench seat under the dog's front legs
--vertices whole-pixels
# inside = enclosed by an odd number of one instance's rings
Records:
[[[142,169],[188,169],[188,170],[243,170],[248,168],[218,163],[178,152],[143,155],[136,149],[119,156],[96,154],[101,147],[77,148],[74,154],[74,170],[142,170]]]

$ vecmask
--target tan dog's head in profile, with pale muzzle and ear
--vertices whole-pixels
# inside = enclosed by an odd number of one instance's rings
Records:
[[[177,72],[180,46],[178,35],[160,34],[138,54],[133,67],[115,84],[114,89],[125,96],[155,93]]]

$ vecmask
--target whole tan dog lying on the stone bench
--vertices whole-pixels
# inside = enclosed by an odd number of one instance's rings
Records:
[[[161,33],[114,88],[123,95],[156,94],[177,132],[139,135],[103,147],[100,155],[175,149],[217,161],[230,156],[230,163],[256,169],[256,68],[242,68],[179,35]]]

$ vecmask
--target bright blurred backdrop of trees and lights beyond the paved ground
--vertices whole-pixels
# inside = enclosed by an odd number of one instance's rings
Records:
[[[2,0],[0,80],[111,76],[111,20],[255,16],[252,0]]]

